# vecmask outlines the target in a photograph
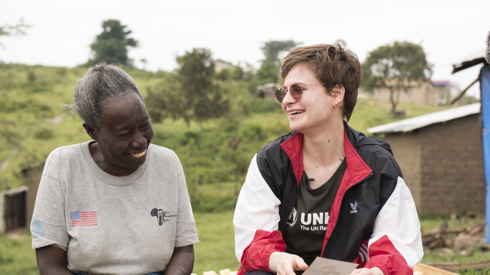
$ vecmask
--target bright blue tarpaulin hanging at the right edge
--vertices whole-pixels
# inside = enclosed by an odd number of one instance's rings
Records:
[[[483,169],[486,183],[485,243],[490,243],[490,66],[480,70]]]

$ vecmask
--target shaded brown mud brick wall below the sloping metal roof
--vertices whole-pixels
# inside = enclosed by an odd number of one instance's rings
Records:
[[[422,143],[424,212],[485,209],[480,115],[427,127]]]

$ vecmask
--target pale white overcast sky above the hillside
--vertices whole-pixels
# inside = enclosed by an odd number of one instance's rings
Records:
[[[260,47],[270,40],[304,46],[346,42],[362,61],[394,41],[421,44],[434,65],[432,80],[465,88],[479,68],[451,75],[452,64],[483,53],[490,30],[490,1],[4,1],[0,25],[20,18],[32,25],[26,36],[0,36],[0,60],[73,67],[91,57],[101,22],[118,19],[139,47],[129,51],[137,67],[173,70],[175,58],[192,48],[211,49],[215,59],[255,68]],[[478,94],[477,85],[470,94]]]

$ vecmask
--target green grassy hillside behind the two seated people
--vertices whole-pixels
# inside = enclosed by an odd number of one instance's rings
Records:
[[[60,109],[72,103],[77,79],[87,68],[27,66],[0,63],[0,189],[24,184],[17,169],[43,162],[53,149],[89,140],[82,121]],[[167,72],[129,70],[142,90],[171,81]],[[196,211],[233,209],[237,191],[253,155],[265,144],[290,131],[281,104],[272,99],[255,99],[253,84],[226,81],[234,112],[187,128],[181,120],[154,123],[153,143],[176,151],[186,173]],[[441,106],[400,104],[408,117],[445,109]],[[233,111],[232,110],[232,111]],[[349,124],[367,128],[393,122],[387,117],[390,104],[358,100]],[[230,142],[240,140],[236,148]]]

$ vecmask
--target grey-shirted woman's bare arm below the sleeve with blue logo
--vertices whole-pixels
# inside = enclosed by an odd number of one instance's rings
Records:
[[[66,251],[59,247],[43,246],[36,248],[36,260],[40,275],[73,275],[66,268]]]

